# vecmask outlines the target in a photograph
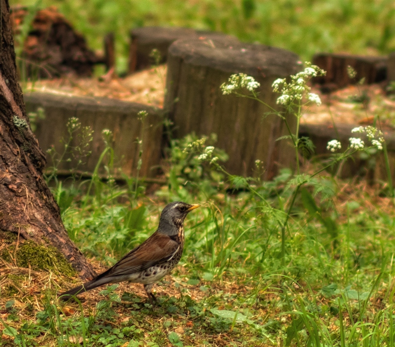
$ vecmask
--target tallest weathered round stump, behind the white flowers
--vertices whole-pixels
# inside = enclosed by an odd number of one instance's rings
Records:
[[[261,83],[260,99],[280,110],[271,84],[300,69],[296,54],[268,46],[240,43],[233,39],[188,39],[169,48],[165,110],[176,124],[175,136],[194,131],[216,133],[216,146],[229,155],[230,173],[252,175],[255,161],[265,167],[265,179],[279,167],[293,164],[294,152],[287,142],[276,141],[287,134],[280,117],[257,101],[222,95],[220,85],[233,73],[243,72]],[[295,119],[289,117],[291,127]]]

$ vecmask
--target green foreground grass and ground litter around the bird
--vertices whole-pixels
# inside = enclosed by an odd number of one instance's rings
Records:
[[[287,177],[260,187],[273,206],[291,196]],[[337,246],[298,198],[285,265],[276,223],[250,193],[228,184],[209,192],[163,186],[137,201],[129,199],[134,187],[94,182],[100,196],[67,188],[73,201],[62,211],[66,229],[97,271],[154,231],[167,202],[202,207],[185,222],[180,265],[155,287],[155,310],[142,286],[126,284],[65,304],[56,292],[78,279],[2,262],[0,346],[394,346],[393,199],[363,181],[320,179],[332,195],[315,201],[336,215]],[[127,225],[131,211],[140,217]]]

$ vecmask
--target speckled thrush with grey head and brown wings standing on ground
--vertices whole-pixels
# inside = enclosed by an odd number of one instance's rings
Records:
[[[83,285],[59,294],[68,300],[79,293],[109,284],[129,281],[141,283],[154,307],[153,284],[169,274],[181,259],[184,249],[184,219],[200,205],[175,201],[162,211],[158,229],[139,246],[132,249],[110,269]]]

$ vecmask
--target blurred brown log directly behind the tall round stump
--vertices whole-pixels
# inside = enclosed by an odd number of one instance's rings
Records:
[[[167,50],[170,45],[179,39],[201,38],[201,39],[219,39],[231,36],[212,31],[201,31],[190,28],[180,27],[142,27],[135,28],[131,31],[131,44],[129,50],[128,74],[137,70],[150,67],[155,63],[151,56],[153,49],[158,50],[160,54],[160,64],[167,60]],[[236,38],[234,38],[236,40]]]

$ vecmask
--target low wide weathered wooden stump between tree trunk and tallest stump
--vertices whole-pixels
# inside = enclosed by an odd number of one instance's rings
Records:
[[[80,158],[62,162],[60,170],[74,169],[93,173],[101,153],[105,148],[102,130],[109,129],[113,133],[115,176],[121,173],[135,175],[139,159],[139,148],[136,139],[141,138],[142,125],[138,119],[138,112],[148,113],[144,122],[142,144],[142,166],[139,175],[152,177],[155,175],[153,167],[159,165],[161,158],[162,116],[161,111],[146,105],[130,103],[106,98],[87,98],[54,95],[48,93],[29,93],[24,95],[27,112],[35,112],[41,107],[45,112],[45,119],[38,120],[35,134],[43,150],[55,146],[57,153],[63,153],[62,138],[67,138],[67,121],[70,117],[77,117],[82,126],[91,126],[93,141],[89,146],[91,155],[83,159],[83,164],[77,165]],[[78,139],[72,140],[71,146],[81,145]],[[82,144],[83,145],[83,144]],[[47,158],[51,166],[51,158]],[[102,163],[99,173],[105,173]]]

